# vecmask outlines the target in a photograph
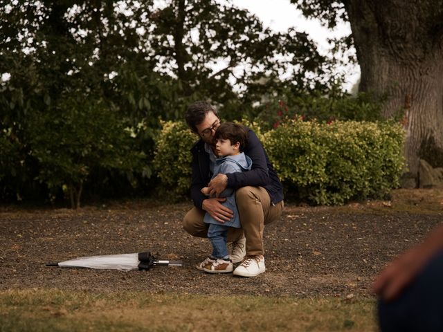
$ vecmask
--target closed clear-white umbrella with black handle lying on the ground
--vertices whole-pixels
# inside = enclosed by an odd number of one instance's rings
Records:
[[[98,268],[107,270],[149,270],[152,266],[183,266],[182,261],[157,260],[149,251],[133,254],[89,256],[48,263],[46,266],[60,266],[62,268]]]

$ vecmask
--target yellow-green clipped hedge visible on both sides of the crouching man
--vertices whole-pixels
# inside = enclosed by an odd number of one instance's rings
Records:
[[[196,139],[186,124],[163,122],[154,163],[165,190],[188,192]],[[404,131],[391,122],[289,120],[260,139],[285,191],[310,203],[383,198],[404,172]]]

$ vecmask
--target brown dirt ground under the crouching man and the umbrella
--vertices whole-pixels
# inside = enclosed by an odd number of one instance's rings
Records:
[[[443,192],[437,190],[397,190],[391,201],[338,208],[289,203],[280,221],[265,228],[266,273],[240,278],[194,267],[208,255],[210,243],[181,228],[191,206],[147,201],[76,211],[0,206],[0,289],[369,296],[386,263],[443,221]],[[129,272],[45,266],[144,250],[185,265]]]

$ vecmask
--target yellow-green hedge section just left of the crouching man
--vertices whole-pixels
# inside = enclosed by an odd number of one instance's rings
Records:
[[[189,192],[191,185],[190,149],[197,140],[184,122],[161,122],[162,129],[156,139],[154,169],[161,179],[161,194],[177,199]]]

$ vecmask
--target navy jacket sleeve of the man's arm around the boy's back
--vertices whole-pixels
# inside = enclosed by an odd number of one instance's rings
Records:
[[[246,185],[254,187],[264,186],[269,183],[268,164],[262,143],[258,140],[257,135],[251,130],[248,131],[248,144],[244,149],[244,154],[251,158],[252,168],[246,172],[235,172],[226,174],[228,176],[228,187],[237,189]]]

